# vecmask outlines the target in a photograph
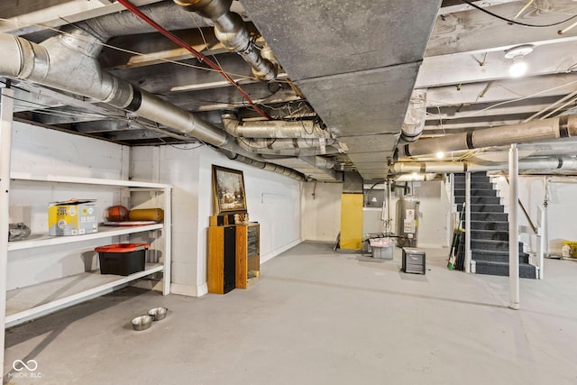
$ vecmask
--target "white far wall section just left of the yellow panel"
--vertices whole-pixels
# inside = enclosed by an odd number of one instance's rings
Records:
[[[305,240],[336,241],[341,231],[341,195],[343,183],[304,183],[302,227]]]

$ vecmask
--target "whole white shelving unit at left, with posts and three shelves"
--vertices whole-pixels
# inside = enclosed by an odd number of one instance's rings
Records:
[[[9,88],[1,88],[2,99],[0,101],[0,322],[2,323],[0,335],[0,368],[4,368],[5,327],[18,325],[39,316],[50,314],[63,307],[69,307],[90,298],[109,293],[114,289],[120,289],[135,280],[149,276],[153,273],[162,272],[162,293],[170,292],[170,251],[171,251],[171,191],[168,184],[141,182],[133,180],[116,179],[90,179],[74,178],[69,176],[38,176],[26,173],[10,171],[11,133],[13,91]],[[7,96],[7,97],[5,97]],[[102,186],[103,188],[121,189],[124,191],[124,200],[128,201],[133,192],[148,192],[150,197],[161,197],[164,210],[163,223],[153,225],[110,227],[99,226],[94,234],[74,236],[49,236],[48,234],[31,234],[23,241],[8,242],[7,215],[10,207],[9,191],[11,182],[24,181],[32,183],[48,183],[58,188],[60,185],[85,185]],[[121,199],[123,199],[121,197]],[[152,198],[151,198],[152,200]],[[123,202],[125,204],[125,202]],[[54,245],[70,244],[85,241],[96,241],[107,237],[118,236],[126,240],[130,234],[142,236],[149,234],[149,238],[162,242],[161,263],[147,263],[145,270],[129,276],[100,274],[99,270],[83,272],[58,280],[47,280],[32,286],[6,291],[6,274],[9,271],[9,252],[47,248]],[[3,373],[4,377],[4,373]]]

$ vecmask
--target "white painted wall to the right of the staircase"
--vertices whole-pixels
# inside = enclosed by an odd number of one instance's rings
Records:
[[[547,239],[545,249],[549,253],[561,255],[563,241],[577,242],[577,178],[548,177],[549,200],[547,206]],[[494,179],[499,189],[499,196],[509,211],[508,184],[505,179]],[[545,177],[519,176],[519,200],[525,206],[531,221],[536,224],[537,206],[543,206],[545,198]],[[517,206],[518,207],[518,206]],[[530,234],[526,216],[519,209],[518,223],[521,228],[519,240],[525,243],[526,252],[536,252],[536,236]]]

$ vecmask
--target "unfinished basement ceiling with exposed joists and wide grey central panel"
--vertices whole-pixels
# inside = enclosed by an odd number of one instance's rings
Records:
[[[85,29],[97,25],[110,35],[97,57],[106,72],[219,130],[224,129],[224,112],[233,111],[242,122],[265,120],[221,74],[123,5],[86,0],[21,3],[2,2],[0,32],[41,43],[70,24]],[[255,152],[252,157],[297,170],[307,179],[340,180],[343,170],[356,170],[366,180],[387,178],[393,151],[404,143],[399,140],[401,125],[414,89],[426,90],[421,138],[496,126],[506,130],[528,119],[570,115],[577,109],[577,27],[558,33],[575,22],[559,23],[577,14],[572,0],[473,2],[517,23],[555,24],[550,27],[508,23],[462,1],[234,1],[231,9],[242,16],[252,41],[260,48],[266,42],[279,62],[279,75],[270,82],[254,78],[243,58],[224,48],[211,20],[189,14],[171,0],[133,4],[217,62],[273,120],[314,121],[332,134],[334,144],[308,139],[303,142],[311,148]],[[525,58],[529,69],[523,78],[510,78],[512,60],[505,51],[521,44],[534,46]],[[32,80],[11,80],[18,119],[127,145],[197,142],[194,135],[93,98]],[[283,140],[263,143],[272,148]],[[524,157],[574,157],[577,152],[571,139],[523,146]],[[504,150],[475,153],[482,160],[500,160]]]

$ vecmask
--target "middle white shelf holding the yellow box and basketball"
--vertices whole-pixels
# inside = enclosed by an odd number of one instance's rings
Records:
[[[32,249],[34,247],[51,246],[55,244],[66,244],[82,241],[90,241],[108,236],[142,233],[151,230],[161,229],[163,224],[142,225],[142,226],[98,226],[98,233],[83,235],[48,235],[31,234],[28,239],[8,243],[8,251]]]

